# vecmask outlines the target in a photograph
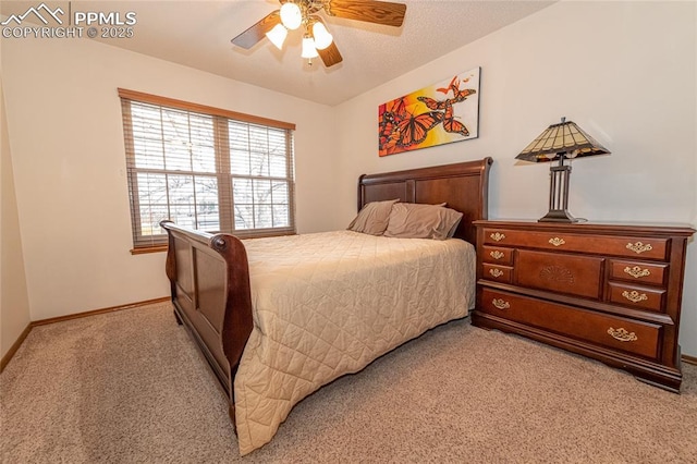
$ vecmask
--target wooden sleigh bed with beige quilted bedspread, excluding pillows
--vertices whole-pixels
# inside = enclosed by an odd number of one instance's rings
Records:
[[[384,234],[253,240],[161,223],[176,320],[224,391],[242,455],[269,442],[292,407],[323,384],[467,316],[475,302],[472,222],[487,219],[491,163],[359,178],[358,211],[399,200],[462,213],[448,240],[384,236],[392,222]]]

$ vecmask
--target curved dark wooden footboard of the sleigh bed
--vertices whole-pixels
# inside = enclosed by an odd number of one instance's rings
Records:
[[[246,251],[233,235],[192,231],[171,221],[160,225],[169,235],[167,277],[174,314],[208,359],[234,418],[233,379],[253,325]]]

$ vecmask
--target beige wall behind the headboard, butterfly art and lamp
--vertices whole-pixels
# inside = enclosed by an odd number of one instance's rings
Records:
[[[353,180],[491,156],[490,217],[547,212],[549,166],[515,156],[561,117],[612,155],[573,162],[571,212],[596,221],[694,223],[697,217],[695,2],[562,1],[337,109],[337,225],[355,213]],[[377,107],[481,66],[480,136],[379,158]],[[681,344],[697,356],[697,245],[688,246]]]

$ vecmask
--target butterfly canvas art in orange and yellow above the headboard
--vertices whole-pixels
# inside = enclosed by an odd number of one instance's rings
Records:
[[[378,154],[388,156],[479,135],[480,68],[378,108]]]

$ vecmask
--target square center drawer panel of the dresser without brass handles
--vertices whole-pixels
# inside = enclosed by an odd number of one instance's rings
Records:
[[[515,262],[516,284],[599,298],[603,262],[604,259],[596,256],[518,249]]]

